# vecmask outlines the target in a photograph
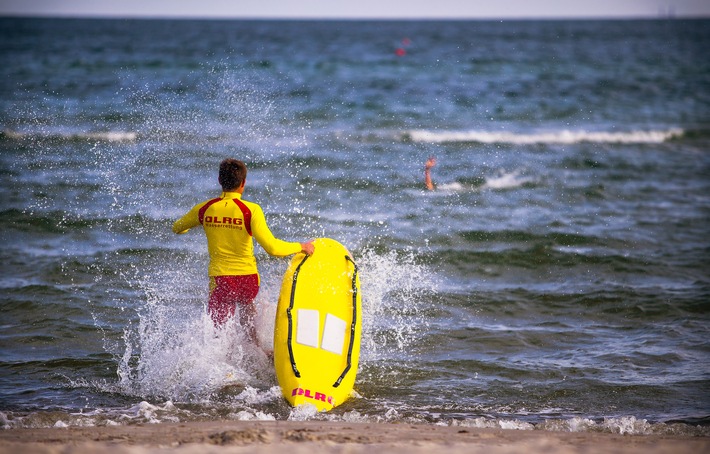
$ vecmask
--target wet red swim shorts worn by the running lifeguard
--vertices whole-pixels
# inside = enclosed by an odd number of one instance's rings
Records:
[[[215,326],[223,325],[234,317],[239,304],[240,322],[252,324],[255,313],[254,299],[259,293],[259,275],[210,276],[210,299],[207,312]]]

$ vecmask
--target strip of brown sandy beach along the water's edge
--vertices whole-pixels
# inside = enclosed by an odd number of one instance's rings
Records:
[[[416,424],[220,421],[0,431],[21,453],[700,453],[710,439]]]

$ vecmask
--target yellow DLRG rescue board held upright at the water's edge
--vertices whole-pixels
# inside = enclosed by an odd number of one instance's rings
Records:
[[[274,328],[276,378],[294,407],[327,411],[350,397],[360,358],[360,279],[348,250],[315,240],[284,274]]]

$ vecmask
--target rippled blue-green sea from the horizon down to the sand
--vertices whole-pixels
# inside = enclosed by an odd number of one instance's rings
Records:
[[[710,435],[709,48],[707,20],[0,19],[0,424]],[[205,316],[170,226],[225,157],[278,237],[358,262],[332,412]],[[268,343],[288,260],[257,256]]]

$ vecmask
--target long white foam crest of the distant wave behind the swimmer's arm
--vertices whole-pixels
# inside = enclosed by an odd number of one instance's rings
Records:
[[[422,143],[510,143],[515,145],[531,144],[575,144],[591,143],[662,143],[683,135],[680,128],[651,131],[584,131],[558,130],[532,133],[509,131],[431,131],[426,129],[411,130],[404,133],[404,138]]]

